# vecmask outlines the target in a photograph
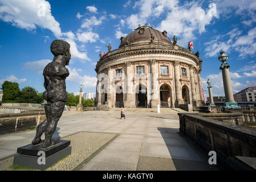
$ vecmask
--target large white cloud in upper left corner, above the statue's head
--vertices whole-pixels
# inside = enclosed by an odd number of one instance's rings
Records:
[[[13,26],[35,30],[36,26],[51,30],[56,38],[62,35],[59,22],[51,14],[51,5],[44,0],[1,0],[0,19]]]

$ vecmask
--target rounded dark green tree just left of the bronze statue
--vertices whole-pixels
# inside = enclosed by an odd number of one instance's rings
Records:
[[[40,97],[34,88],[26,86],[21,90],[21,94],[15,99],[15,102],[41,104],[43,102],[43,98]]]

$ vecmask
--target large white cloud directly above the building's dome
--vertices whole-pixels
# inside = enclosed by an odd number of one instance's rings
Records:
[[[145,24],[160,15],[166,15],[156,29],[168,31],[170,35],[181,37],[179,45],[186,46],[188,40],[194,40],[194,32],[200,34],[205,31],[205,26],[210,24],[214,17],[218,18],[216,4],[210,3],[204,10],[198,2],[193,1],[179,6],[178,0],[141,0],[135,3],[134,8],[139,8],[139,13],[128,16],[128,26],[137,28],[138,24]]]

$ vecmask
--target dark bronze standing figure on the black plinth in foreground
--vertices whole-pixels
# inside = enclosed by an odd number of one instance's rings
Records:
[[[63,40],[54,40],[51,43],[51,52],[54,55],[54,59],[43,70],[43,85],[46,89],[43,93],[43,98],[47,101],[47,104],[44,105],[46,119],[38,125],[35,138],[32,140],[32,144],[39,144],[44,133],[45,139],[42,148],[55,144],[51,137],[56,130],[67,101],[65,79],[70,75],[65,67],[71,59],[70,44]]]

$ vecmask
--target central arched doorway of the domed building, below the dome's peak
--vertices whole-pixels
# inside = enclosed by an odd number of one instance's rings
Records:
[[[136,86],[136,107],[147,107],[148,98],[147,98],[147,87],[143,84]]]

